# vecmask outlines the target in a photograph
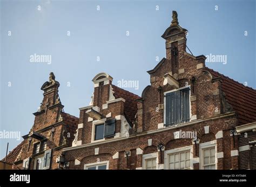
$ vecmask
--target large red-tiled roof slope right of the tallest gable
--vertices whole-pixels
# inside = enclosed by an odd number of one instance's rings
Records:
[[[245,85],[213,69],[207,67],[205,69],[214,77],[222,78],[221,90],[225,92],[227,102],[237,112],[239,125],[256,121],[256,90],[245,87]]]

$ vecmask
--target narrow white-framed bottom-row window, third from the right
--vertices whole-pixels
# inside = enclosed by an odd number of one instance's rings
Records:
[[[158,169],[158,153],[142,155],[143,169]]]

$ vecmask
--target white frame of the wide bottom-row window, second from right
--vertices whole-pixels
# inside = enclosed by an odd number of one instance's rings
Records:
[[[164,152],[164,169],[169,169],[169,155],[190,150],[190,169],[193,169],[193,146],[179,147],[175,149],[165,150]]]

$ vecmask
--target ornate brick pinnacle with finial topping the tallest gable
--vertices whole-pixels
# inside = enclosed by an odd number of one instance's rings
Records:
[[[178,14],[172,11],[171,25],[165,30],[162,38],[166,40],[166,59],[172,62],[172,72],[178,71],[180,57],[186,52],[186,33],[187,30],[179,26]]]

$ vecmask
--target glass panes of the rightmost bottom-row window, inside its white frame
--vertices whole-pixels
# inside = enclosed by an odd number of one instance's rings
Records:
[[[203,149],[203,168],[215,169],[215,147]]]

